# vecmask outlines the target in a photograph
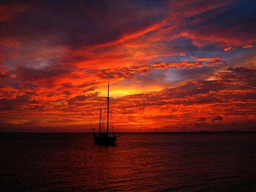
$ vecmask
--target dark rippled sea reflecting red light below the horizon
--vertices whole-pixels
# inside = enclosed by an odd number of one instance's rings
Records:
[[[256,191],[255,133],[0,133],[0,191]]]

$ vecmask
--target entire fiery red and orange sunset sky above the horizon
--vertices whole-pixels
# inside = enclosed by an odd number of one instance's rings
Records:
[[[1,1],[0,131],[256,131],[256,1]]]

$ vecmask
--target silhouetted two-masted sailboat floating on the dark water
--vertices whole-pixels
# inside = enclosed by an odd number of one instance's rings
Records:
[[[95,144],[99,145],[115,145],[115,141],[117,140],[117,136],[113,133],[110,135],[109,133],[109,83],[108,83],[108,98],[107,98],[107,127],[106,132],[101,132],[101,109],[100,109],[100,127],[98,129],[98,133],[93,132],[93,140]]]

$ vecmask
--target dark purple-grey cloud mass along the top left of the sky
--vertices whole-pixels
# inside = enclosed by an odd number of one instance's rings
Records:
[[[74,48],[104,43],[118,39],[124,32],[136,31],[163,19],[168,11],[164,6],[166,3],[28,1],[24,2],[28,6],[27,10],[18,15],[18,19],[3,24],[5,30],[1,30],[0,34],[5,37],[15,36],[20,40],[50,36],[53,41],[49,41],[49,44],[64,43]]]

